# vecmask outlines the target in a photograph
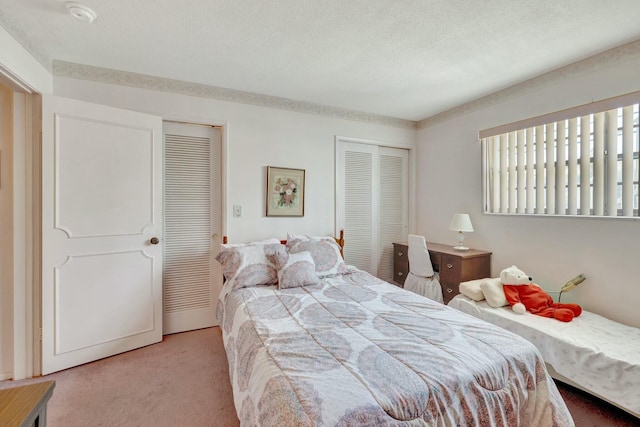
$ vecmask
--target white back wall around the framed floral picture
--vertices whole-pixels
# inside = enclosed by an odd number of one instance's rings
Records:
[[[415,129],[400,129],[273,108],[217,101],[71,78],[54,78],[54,94],[205,123],[226,123],[226,223],[230,241],[286,238],[287,232],[335,232],[335,136],[404,146]],[[302,218],[265,216],[266,167],[306,170]],[[232,207],[242,205],[242,217]],[[348,236],[346,236],[348,239]]]

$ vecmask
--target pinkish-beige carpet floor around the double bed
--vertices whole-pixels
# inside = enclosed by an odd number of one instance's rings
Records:
[[[54,380],[47,426],[214,426],[240,423],[219,328],[163,341],[40,378],[0,381],[0,389]],[[577,427],[640,426],[640,420],[558,383]]]

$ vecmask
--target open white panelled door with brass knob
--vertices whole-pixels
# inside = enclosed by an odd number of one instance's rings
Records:
[[[42,373],[162,340],[162,121],[42,99]]]

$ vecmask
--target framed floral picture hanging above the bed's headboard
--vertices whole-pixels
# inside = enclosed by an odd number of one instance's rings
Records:
[[[267,166],[267,216],[304,216],[304,169]]]

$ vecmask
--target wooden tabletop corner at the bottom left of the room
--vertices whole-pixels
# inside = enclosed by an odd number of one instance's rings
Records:
[[[45,427],[47,402],[55,381],[44,381],[0,390],[0,426]]]

